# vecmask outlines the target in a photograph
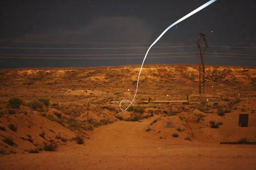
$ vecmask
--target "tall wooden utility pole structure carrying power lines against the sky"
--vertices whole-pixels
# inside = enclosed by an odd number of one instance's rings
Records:
[[[204,61],[205,61],[205,49],[208,47],[208,44],[205,40],[205,36],[204,34],[202,33],[199,33],[199,38],[198,38],[198,41],[197,41],[197,46],[199,48],[199,94],[201,94],[201,65],[202,65],[202,68],[203,68],[203,93],[204,93]],[[201,38],[203,38],[204,40],[204,51],[203,51],[203,56],[202,56],[202,52],[201,52]]]

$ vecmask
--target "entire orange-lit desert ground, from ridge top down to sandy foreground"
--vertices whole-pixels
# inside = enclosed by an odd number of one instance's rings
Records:
[[[256,141],[255,67],[206,65],[200,95],[198,65],[145,65],[120,112],[139,69],[1,69],[1,169],[255,169],[255,145],[220,144]]]

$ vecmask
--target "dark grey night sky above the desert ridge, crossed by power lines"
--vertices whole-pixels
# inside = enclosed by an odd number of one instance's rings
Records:
[[[206,2],[1,1],[0,68],[141,64],[164,29]],[[169,47],[145,64],[197,64],[202,32],[206,64],[256,66],[255,4],[218,0],[170,29],[156,44]]]

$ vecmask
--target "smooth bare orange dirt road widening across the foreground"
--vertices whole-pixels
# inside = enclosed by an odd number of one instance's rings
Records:
[[[154,117],[155,118],[155,117]],[[1,169],[255,169],[254,145],[182,144],[145,129],[152,122],[116,122],[94,130],[83,145],[57,152],[0,157]]]

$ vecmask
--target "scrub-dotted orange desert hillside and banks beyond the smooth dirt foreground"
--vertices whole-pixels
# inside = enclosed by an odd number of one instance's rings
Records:
[[[113,101],[133,98],[139,69],[140,65],[0,70],[1,154],[47,152],[48,146],[56,151],[77,144],[104,146],[104,141],[118,144],[127,139],[115,130],[119,126],[130,135],[128,141],[138,140],[139,145],[256,140],[255,67],[207,65],[205,94],[200,95],[197,65],[145,65],[134,106],[121,112]],[[189,103],[143,102],[186,100],[187,94]],[[17,108],[11,105],[15,99],[22,101]],[[238,126],[241,113],[249,114],[247,128]],[[166,128],[167,122],[173,127]],[[102,135],[105,138],[97,141]]]

